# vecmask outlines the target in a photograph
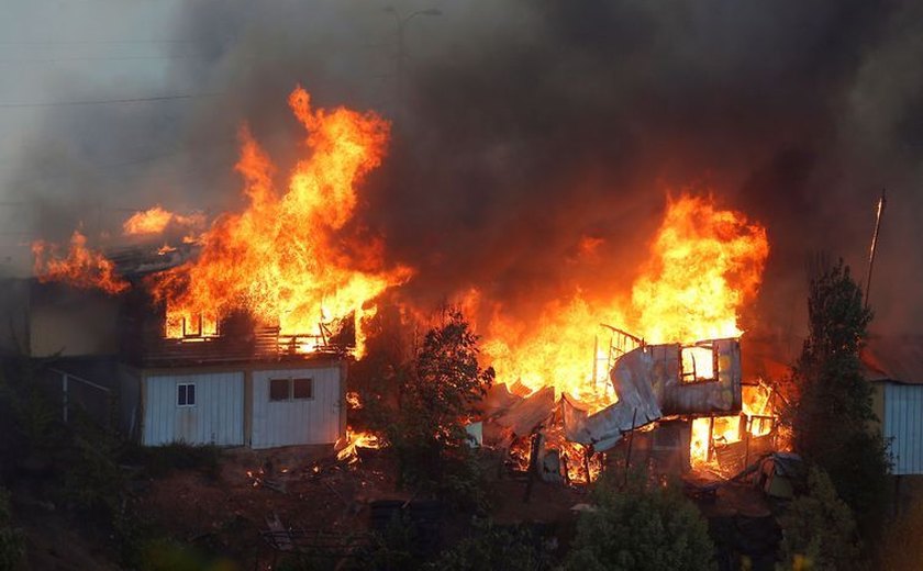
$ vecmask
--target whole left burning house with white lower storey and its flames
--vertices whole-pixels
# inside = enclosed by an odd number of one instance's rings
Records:
[[[44,373],[60,383],[65,415],[86,390],[118,403],[125,433],[145,445],[267,448],[345,434],[357,324],[408,275],[381,267],[375,239],[336,234],[355,208],[355,181],[380,161],[388,125],[312,109],[301,89],[289,103],[310,153],[285,189],[244,132],[242,212],[198,232],[201,215],[158,205],[123,225],[122,239],[138,246],[105,255],[79,232],[66,249],[33,245],[37,279],[4,296],[5,348],[53,363]]]

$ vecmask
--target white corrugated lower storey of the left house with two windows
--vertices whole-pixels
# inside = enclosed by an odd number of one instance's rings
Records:
[[[134,434],[170,443],[274,448],[333,444],[346,432],[345,362],[315,355],[278,362],[137,369]],[[140,383],[140,391],[125,384]]]

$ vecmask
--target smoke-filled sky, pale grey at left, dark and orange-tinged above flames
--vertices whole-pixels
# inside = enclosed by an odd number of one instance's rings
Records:
[[[477,287],[511,311],[644,261],[669,192],[769,233],[758,302],[803,333],[810,259],[865,276],[872,328],[923,318],[923,9],[902,1],[13,1],[0,21],[0,262],[154,203],[240,205],[243,123],[285,170],[298,83],[393,122],[362,220],[408,295]],[[391,8],[391,10],[387,10]],[[418,13],[438,10],[440,14]],[[403,66],[398,66],[399,34]],[[398,69],[402,68],[401,81]]]

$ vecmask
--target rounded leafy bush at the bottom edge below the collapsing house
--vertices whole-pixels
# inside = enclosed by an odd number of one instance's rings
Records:
[[[598,507],[580,515],[566,570],[715,568],[708,525],[676,486],[636,475],[619,489],[604,477],[593,499]]]

